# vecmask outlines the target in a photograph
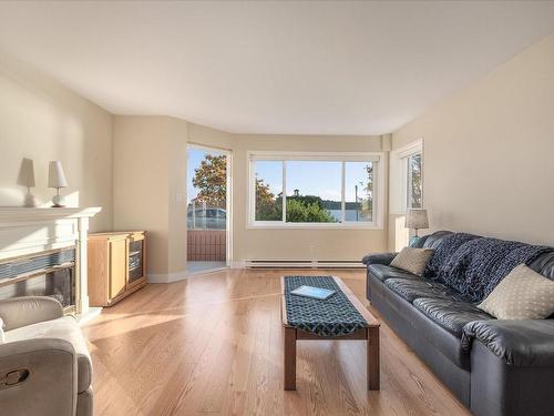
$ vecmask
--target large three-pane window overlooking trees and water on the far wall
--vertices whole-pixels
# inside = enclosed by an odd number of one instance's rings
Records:
[[[380,226],[379,160],[380,153],[252,153],[248,223]]]

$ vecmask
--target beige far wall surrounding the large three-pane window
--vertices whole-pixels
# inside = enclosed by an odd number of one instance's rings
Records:
[[[387,248],[386,227],[383,230],[248,229],[248,151],[380,152],[381,139],[236,134],[233,149],[234,262],[250,258],[312,258],[314,256],[358,260],[370,251]],[[314,246],[314,252],[310,246]]]

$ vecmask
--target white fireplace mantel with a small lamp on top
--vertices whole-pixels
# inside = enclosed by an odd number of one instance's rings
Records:
[[[75,246],[79,314],[89,311],[86,241],[89,219],[102,207],[0,207],[0,261]]]

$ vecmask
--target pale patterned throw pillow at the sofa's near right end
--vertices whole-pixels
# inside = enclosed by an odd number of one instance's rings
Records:
[[[520,264],[478,307],[499,319],[544,319],[554,313],[554,282]]]

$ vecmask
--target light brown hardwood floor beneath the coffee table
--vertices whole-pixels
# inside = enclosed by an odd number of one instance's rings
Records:
[[[298,343],[297,390],[283,389],[284,274],[334,274],[365,303],[363,271],[222,271],[151,284],[84,327],[100,415],[469,415],[381,326],[381,390],[363,341]],[[379,314],[371,310],[379,317]]]

